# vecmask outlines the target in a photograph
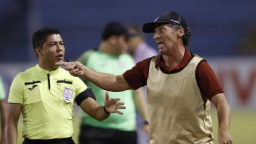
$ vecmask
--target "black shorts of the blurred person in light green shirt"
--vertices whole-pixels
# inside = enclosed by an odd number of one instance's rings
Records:
[[[137,144],[136,131],[118,131],[99,127],[82,126],[80,144]]]

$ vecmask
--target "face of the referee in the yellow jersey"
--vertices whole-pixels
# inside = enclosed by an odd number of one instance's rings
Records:
[[[55,63],[64,60],[65,47],[60,34],[49,35],[38,58],[45,66],[55,69]]]

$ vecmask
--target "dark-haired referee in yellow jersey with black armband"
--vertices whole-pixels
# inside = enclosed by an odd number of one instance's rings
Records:
[[[56,28],[42,28],[33,34],[33,48],[38,58],[35,67],[17,74],[8,98],[6,139],[17,144],[17,123],[23,115],[23,144],[74,144],[72,140],[74,103],[96,120],[110,113],[122,114],[120,99],[109,99],[104,106],[95,101],[90,88],[78,77],[55,65],[64,59],[65,47]]]

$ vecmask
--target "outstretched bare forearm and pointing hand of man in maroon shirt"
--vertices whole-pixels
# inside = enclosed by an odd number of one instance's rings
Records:
[[[122,75],[115,76],[113,74],[106,74],[102,72],[95,72],[82,63],[76,62],[58,62],[56,65],[63,66],[72,74],[72,76],[79,76],[91,81],[100,88],[111,92],[121,92],[132,89],[125,81]]]

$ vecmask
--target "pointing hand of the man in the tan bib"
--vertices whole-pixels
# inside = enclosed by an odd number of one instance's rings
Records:
[[[57,62],[55,65],[61,66],[68,70],[72,76],[83,76],[84,75],[84,68],[85,66],[80,63],[79,61],[74,62]]]

